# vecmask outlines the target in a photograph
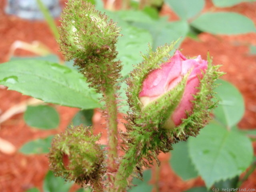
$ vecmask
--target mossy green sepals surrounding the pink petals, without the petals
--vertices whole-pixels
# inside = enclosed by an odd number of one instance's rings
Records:
[[[176,42],[173,42],[171,45],[159,47],[155,52],[150,50],[149,56],[144,56],[144,62],[136,66],[136,68],[131,72],[130,78],[127,80],[127,96],[130,108],[133,111],[130,113],[130,120],[137,127],[141,127],[146,130],[149,130],[150,127],[155,130],[158,128],[166,128],[169,129],[173,137],[180,140],[186,140],[190,135],[196,136],[200,128],[204,127],[210,120],[210,112],[212,110],[212,106],[214,106],[214,103],[212,102],[212,98],[214,97],[213,88],[215,87],[214,81],[222,76],[223,73],[218,71],[220,66],[212,65],[212,60],[210,59],[209,54],[207,62],[205,60],[201,60],[201,57],[199,56],[200,62],[204,62],[203,65],[207,67],[202,66],[204,70],[201,69],[201,72],[197,71],[198,87],[196,86],[196,89],[198,89],[198,91],[193,95],[194,99],[190,100],[190,102],[193,103],[192,109],[190,111],[186,111],[187,118],[182,119],[179,124],[174,124],[172,120],[172,113],[176,108],[178,108],[181,101],[185,100],[188,102],[186,98],[182,99],[182,96],[185,90],[191,90],[188,87],[187,79],[191,77],[190,73],[192,72],[192,68],[185,75],[181,75],[181,81],[167,93],[163,92],[162,96],[153,100],[146,96],[145,98],[152,100],[150,102],[141,102],[143,97],[139,97],[139,93],[142,91],[142,86],[145,88],[143,83],[148,74],[154,70],[154,78],[157,78],[156,72],[161,74],[158,68],[161,64],[166,63],[164,58],[170,59],[168,52],[172,50],[175,43]],[[174,56],[177,55],[175,54]],[[176,58],[174,58],[174,60],[176,60]],[[186,58],[182,59],[187,60]],[[198,58],[194,58],[193,61],[198,62],[199,60],[197,59]],[[192,61],[192,59],[189,61]],[[152,78],[152,76],[150,77]],[[191,79],[192,78],[190,78],[190,80]],[[152,80],[148,82],[154,83]],[[147,86],[146,89],[148,89]],[[184,129],[190,130],[190,132],[185,131]]]

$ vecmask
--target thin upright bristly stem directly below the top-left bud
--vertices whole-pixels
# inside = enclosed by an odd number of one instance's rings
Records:
[[[117,104],[114,87],[105,92],[106,110],[108,114],[108,173],[116,172],[118,164],[118,131],[117,131]],[[113,183],[113,176],[109,176],[109,183]]]

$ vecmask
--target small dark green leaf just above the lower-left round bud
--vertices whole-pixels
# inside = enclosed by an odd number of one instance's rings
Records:
[[[73,126],[78,126],[80,124],[83,124],[84,126],[91,126],[93,114],[93,109],[80,110],[72,119],[71,124]]]

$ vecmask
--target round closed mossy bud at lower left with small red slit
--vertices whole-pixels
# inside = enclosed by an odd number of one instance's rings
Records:
[[[65,180],[74,180],[78,184],[90,184],[98,187],[105,172],[104,153],[95,142],[89,127],[76,126],[67,128],[52,140],[48,154],[50,170]]]

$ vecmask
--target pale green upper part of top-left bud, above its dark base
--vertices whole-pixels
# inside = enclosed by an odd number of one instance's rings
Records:
[[[60,48],[67,60],[113,57],[119,28],[85,0],[69,0],[61,16]]]

